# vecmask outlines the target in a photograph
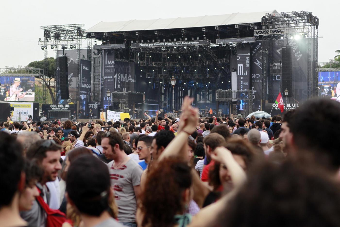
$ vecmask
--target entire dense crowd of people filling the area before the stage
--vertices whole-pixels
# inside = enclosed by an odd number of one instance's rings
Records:
[[[340,103],[0,123],[0,227],[340,226]],[[326,129],[321,132],[319,129]]]

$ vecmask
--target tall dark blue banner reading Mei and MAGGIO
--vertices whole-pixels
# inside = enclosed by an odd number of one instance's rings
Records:
[[[79,96],[79,110],[81,115],[79,118],[86,118],[87,104],[90,101],[91,93],[91,61],[80,60],[80,96]]]

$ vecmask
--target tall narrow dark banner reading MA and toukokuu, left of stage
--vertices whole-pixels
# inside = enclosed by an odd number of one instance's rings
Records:
[[[107,90],[114,92],[115,87],[115,52],[109,49],[103,51],[102,101],[108,105]]]

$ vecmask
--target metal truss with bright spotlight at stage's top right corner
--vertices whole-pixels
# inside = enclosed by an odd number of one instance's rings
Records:
[[[318,26],[319,18],[306,11],[290,13],[267,13],[262,17],[261,29],[255,29],[254,35],[259,39],[289,39],[300,35],[307,39],[307,98],[318,96]],[[279,36],[284,35],[284,36]]]

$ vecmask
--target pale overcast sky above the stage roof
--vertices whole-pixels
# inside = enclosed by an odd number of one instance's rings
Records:
[[[31,61],[42,60],[43,51],[38,46],[43,38],[41,25],[85,24],[85,29],[100,21],[130,19],[157,19],[192,17],[229,13],[247,13],[277,10],[278,12],[308,11],[319,17],[318,61],[333,58],[340,50],[339,0],[281,0],[281,1],[136,1],[136,0],[73,0],[73,1],[2,1],[0,14],[0,68],[26,66]],[[83,47],[86,41],[83,43]],[[49,50],[50,57],[54,51]]]

